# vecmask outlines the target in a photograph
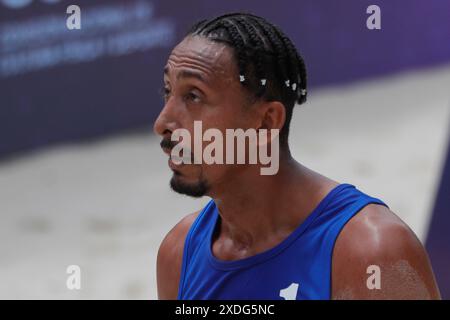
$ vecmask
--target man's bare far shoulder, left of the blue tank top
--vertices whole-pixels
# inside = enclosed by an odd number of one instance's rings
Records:
[[[176,299],[184,241],[200,210],[181,219],[164,237],[158,250],[156,277],[159,299]]]

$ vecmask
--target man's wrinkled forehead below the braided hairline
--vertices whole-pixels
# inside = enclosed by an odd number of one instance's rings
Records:
[[[188,36],[171,52],[167,70],[196,69],[209,80],[217,76],[229,79],[237,73],[232,49],[224,43],[201,36]]]

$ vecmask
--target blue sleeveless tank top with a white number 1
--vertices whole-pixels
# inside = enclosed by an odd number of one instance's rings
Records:
[[[345,224],[371,203],[387,207],[353,185],[340,184],[272,249],[224,261],[211,251],[220,219],[211,200],[186,236],[178,299],[330,299],[334,243]]]

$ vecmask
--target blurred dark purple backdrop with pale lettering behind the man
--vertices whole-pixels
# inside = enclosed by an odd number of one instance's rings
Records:
[[[0,0],[0,157],[150,129],[173,45],[197,19],[229,11],[278,24],[305,57],[313,89],[450,61],[450,1],[78,0],[82,29],[69,31],[70,4]],[[366,28],[371,4],[381,30]],[[450,298],[449,160],[445,170],[428,249]]]

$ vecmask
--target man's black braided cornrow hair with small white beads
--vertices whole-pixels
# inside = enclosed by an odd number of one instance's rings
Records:
[[[305,63],[291,40],[277,26],[248,13],[201,20],[187,35],[225,43],[234,50],[241,85],[255,99],[280,101],[286,108],[280,142],[287,143],[293,107],[306,101]]]

